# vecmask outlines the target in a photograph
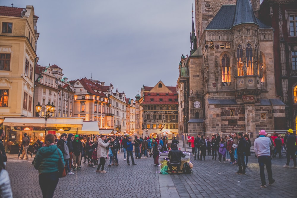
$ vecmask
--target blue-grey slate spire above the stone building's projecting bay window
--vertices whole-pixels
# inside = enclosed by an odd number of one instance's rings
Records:
[[[233,26],[241,23],[255,23],[258,25],[250,0],[236,1]]]

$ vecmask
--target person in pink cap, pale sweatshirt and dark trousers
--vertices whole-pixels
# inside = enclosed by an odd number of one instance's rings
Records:
[[[260,137],[256,138],[254,141],[254,150],[258,158],[258,163],[260,167],[260,178],[261,178],[260,187],[266,188],[264,166],[266,166],[269,185],[273,184],[275,181],[272,178],[272,170],[271,170],[271,157],[270,157],[271,141],[268,137],[265,137],[266,135],[265,130],[261,130],[259,135]]]

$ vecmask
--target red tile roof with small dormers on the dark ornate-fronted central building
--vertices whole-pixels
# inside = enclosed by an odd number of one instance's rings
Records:
[[[141,104],[178,104],[177,94],[176,95],[174,94],[175,93],[147,93],[146,92],[144,93],[144,101]],[[151,101],[151,99],[153,99],[153,101]],[[162,101],[160,101],[160,99],[162,99]],[[172,101],[169,101],[169,99],[171,99]]]

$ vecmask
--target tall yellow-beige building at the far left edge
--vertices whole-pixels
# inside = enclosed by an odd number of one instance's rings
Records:
[[[0,117],[33,115],[37,19],[34,8],[0,6]]]

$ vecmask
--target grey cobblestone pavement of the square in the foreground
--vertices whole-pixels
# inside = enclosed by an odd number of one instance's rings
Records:
[[[40,197],[38,171],[32,159],[18,160],[8,155],[14,197]],[[286,159],[273,159],[272,172],[275,183],[260,187],[259,165],[252,153],[246,175],[237,175],[237,165],[218,163],[206,156],[205,161],[194,160],[193,174],[160,175],[153,158],[135,159],[136,166],[127,166],[124,154],[118,155],[119,166],[107,167],[106,174],[95,173],[96,168],[84,167],[59,180],[54,197],[296,197],[297,169],[285,169]],[[290,162],[290,167],[293,161]],[[266,182],[268,184],[267,172]]]

